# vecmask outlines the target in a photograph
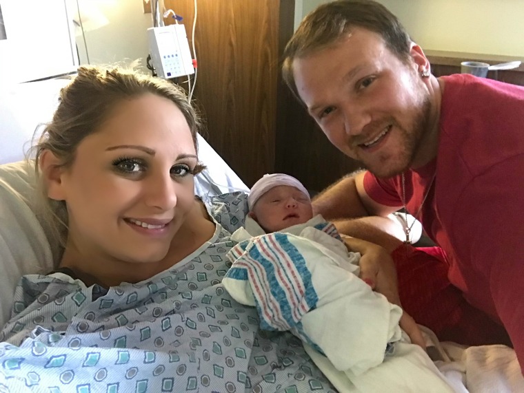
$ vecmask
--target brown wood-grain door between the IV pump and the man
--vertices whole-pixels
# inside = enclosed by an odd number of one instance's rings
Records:
[[[275,169],[280,59],[293,32],[294,0],[197,5],[194,99],[207,121],[204,137],[250,187]],[[194,1],[165,0],[165,7],[183,17],[191,44]]]

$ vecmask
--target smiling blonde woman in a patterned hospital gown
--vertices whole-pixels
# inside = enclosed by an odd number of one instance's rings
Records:
[[[81,67],[63,89],[36,147],[63,255],[50,275],[17,286],[0,387],[332,391],[297,339],[261,332],[256,310],[223,289],[247,203],[241,193],[210,206],[194,197],[198,129],[167,81]]]

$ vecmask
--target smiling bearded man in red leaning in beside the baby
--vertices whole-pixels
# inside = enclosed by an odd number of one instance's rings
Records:
[[[432,76],[398,19],[368,0],[309,14],[283,76],[330,142],[367,168],[321,193],[316,213],[361,237],[348,218],[405,208],[439,246],[393,251],[405,310],[470,344],[509,343],[503,326],[523,368],[524,88]]]

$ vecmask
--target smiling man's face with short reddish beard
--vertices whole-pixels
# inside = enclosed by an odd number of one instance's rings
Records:
[[[293,72],[308,112],[335,147],[376,176],[410,167],[432,110],[415,61],[403,63],[379,34],[354,28],[295,59]]]

